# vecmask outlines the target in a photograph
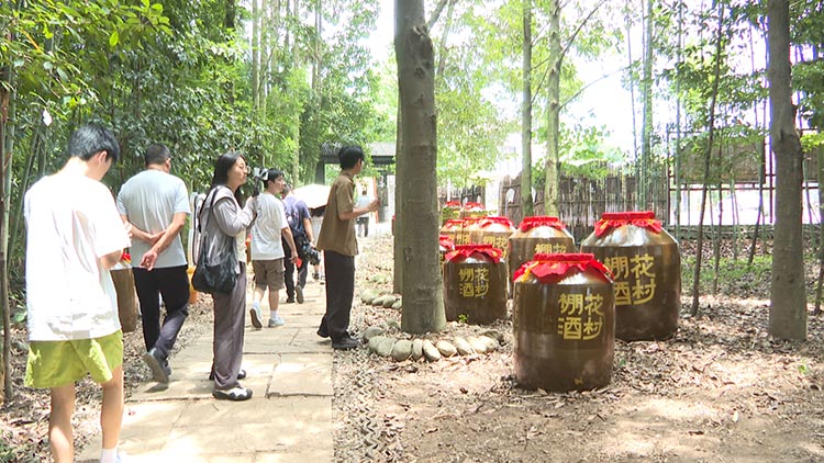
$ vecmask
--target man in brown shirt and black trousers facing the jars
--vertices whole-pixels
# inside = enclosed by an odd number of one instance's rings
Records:
[[[344,146],[337,153],[341,173],[332,183],[326,212],[318,237],[318,249],[323,250],[326,270],[326,313],[321,319],[318,336],[332,338],[333,349],[353,349],[357,339],[348,332],[352,300],[355,294],[355,218],[380,207],[375,200],[366,207],[355,207],[355,176],[364,168],[364,150],[359,146]]]

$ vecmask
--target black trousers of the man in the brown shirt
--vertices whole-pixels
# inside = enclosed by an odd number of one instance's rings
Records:
[[[326,314],[321,320],[321,331],[329,332],[335,341],[348,335],[355,295],[355,257],[323,251],[323,262],[326,268]]]

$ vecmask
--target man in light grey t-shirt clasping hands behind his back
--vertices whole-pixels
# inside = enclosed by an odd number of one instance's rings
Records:
[[[155,381],[167,383],[171,374],[167,359],[189,315],[188,262],[180,230],[191,208],[186,184],[169,174],[169,148],[149,145],[145,160],[146,170],[120,189],[118,210],[133,227],[132,270],[146,342],[143,360]],[[159,297],[166,304],[163,326]]]

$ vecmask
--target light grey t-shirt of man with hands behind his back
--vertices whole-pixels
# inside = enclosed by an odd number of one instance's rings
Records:
[[[154,169],[144,170],[123,183],[118,194],[118,211],[129,217],[129,222],[135,227],[149,235],[165,230],[175,214],[191,214],[183,181]],[[135,239],[131,248],[132,266],[140,267],[143,255],[151,248],[148,242]],[[178,234],[169,247],[157,256],[155,267],[163,269],[186,263],[183,245]]]

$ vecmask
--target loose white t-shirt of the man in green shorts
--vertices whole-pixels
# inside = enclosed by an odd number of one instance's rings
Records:
[[[120,329],[105,255],[129,247],[111,192],[82,174],[45,177],[25,194],[29,339],[91,339]]]

